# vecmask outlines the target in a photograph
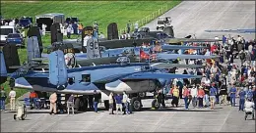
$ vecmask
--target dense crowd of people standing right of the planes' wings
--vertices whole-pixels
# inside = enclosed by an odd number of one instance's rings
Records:
[[[217,38],[219,40],[219,38]],[[187,45],[195,45],[193,43]],[[197,45],[197,44],[196,44]],[[187,65],[202,65],[202,68],[187,68],[183,74],[202,75],[198,79],[176,79],[169,93],[173,96],[172,106],[178,106],[178,100],[184,98],[185,109],[190,102],[192,107],[215,109],[215,104],[239,105],[238,111],[244,111],[246,102],[256,104],[256,40],[245,41],[240,35],[223,36],[223,43],[204,44],[209,50],[185,51],[187,54],[218,55],[215,60],[187,60]],[[234,59],[238,58],[235,63]],[[167,91],[166,91],[167,92]],[[236,102],[236,99],[239,102]],[[248,104],[247,104],[248,105]]]

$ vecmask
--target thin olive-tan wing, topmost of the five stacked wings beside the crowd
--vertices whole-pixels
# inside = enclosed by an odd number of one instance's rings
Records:
[[[165,43],[181,43],[181,42],[216,42],[222,40],[216,39],[189,39],[189,38],[167,38]]]

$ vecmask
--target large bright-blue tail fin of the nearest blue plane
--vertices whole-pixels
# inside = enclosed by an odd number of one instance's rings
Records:
[[[49,54],[49,82],[56,86],[63,86],[67,83],[68,71],[61,50]]]

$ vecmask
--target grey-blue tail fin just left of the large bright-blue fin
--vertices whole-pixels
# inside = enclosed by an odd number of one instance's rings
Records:
[[[36,36],[32,36],[28,39],[28,63],[32,62],[32,59],[41,58],[38,40]]]

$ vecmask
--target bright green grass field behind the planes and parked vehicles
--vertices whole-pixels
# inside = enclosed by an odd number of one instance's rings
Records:
[[[83,25],[97,22],[99,31],[106,35],[106,26],[110,22],[117,22],[118,28],[124,28],[128,21],[139,21],[162,6],[171,9],[179,3],[180,1],[1,1],[1,13],[2,17],[7,19],[29,16],[33,21],[36,15],[62,13],[65,17],[78,17]],[[43,36],[42,42],[44,46],[49,45],[49,35]],[[25,62],[26,49],[19,50],[19,55],[21,63]],[[9,92],[8,82],[4,83],[4,86]],[[17,92],[22,95],[25,91]]]

